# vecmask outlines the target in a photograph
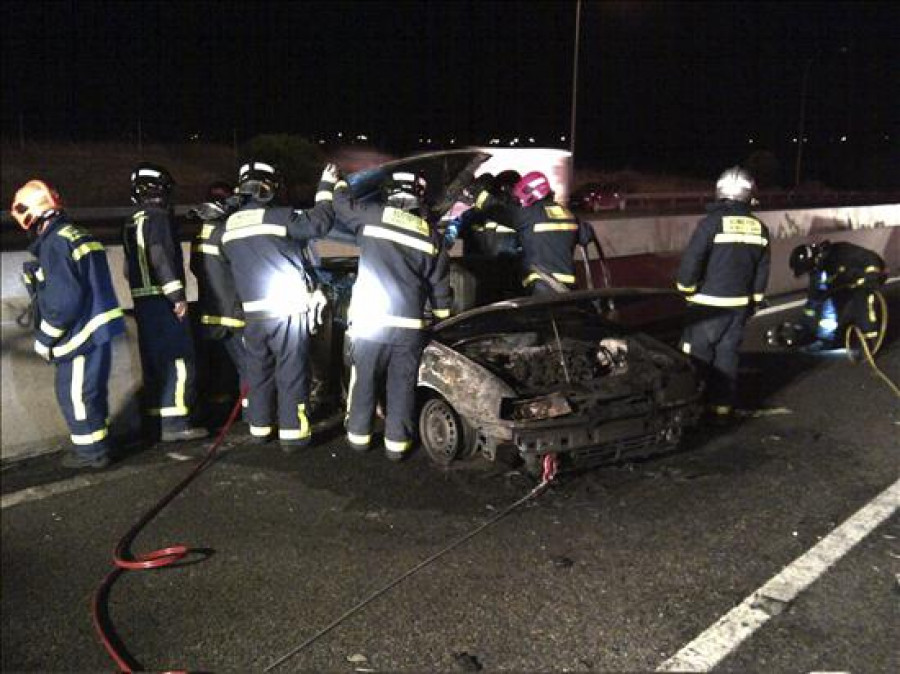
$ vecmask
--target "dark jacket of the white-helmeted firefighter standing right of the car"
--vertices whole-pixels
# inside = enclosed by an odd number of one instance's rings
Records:
[[[681,256],[676,286],[694,304],[752,308],[769,280],[769,230],[740,202],[707,210]]]

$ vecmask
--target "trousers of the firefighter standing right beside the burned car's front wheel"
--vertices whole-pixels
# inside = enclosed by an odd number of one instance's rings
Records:
[[[385,449],[395,453],[412,449],[416,437],[416,381],[423,346],[422,340],[402,344],[353,340],[347,401],[347,439],[351,443],[367,446],[372,441],[372,416],[384,384]]]

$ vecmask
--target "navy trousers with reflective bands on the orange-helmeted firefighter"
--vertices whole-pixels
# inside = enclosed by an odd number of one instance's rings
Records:
[[[56,361],[56,400],[69,427],[75,453],[99,459],[109,452],[109,373],[107,342],[71,360]]]

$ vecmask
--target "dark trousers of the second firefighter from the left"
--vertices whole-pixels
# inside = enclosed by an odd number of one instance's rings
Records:
[[[190,428],[196,401],[194,344],[188,322],[178,320],[165,297],[134,301],[144,372],[145,412],[166,431]]]

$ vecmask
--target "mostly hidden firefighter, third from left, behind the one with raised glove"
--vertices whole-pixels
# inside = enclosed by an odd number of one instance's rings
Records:
[[[203,341],[221,344],[234,365],[241,388],[246,391],[244,310],[231,267],[222,255],[225,221],[237,206],[234,188],[225,182],[215,182],[210,185],[207,198],[194,213],[201,225],[191,245],[190,268],[197,279],[197,329]],[[211,351],[204,349],[207,356]],[[215,368],[210,358],[206,359],[206,365],[206,379],[211,380]],[[247,398],[242,402],[246,408]]]

